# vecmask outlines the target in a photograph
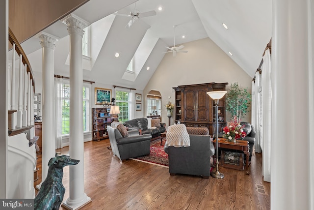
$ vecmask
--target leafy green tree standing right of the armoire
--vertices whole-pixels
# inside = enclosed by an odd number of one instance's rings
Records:
[[[251,94],[247,88],[241,88],[237,83],[233,83],[226,95],[226,110],[230,112],[231,119],[236,116],[237,120],[249,112],[248,108],[251,105]]]

